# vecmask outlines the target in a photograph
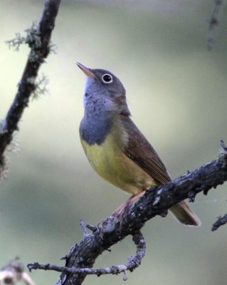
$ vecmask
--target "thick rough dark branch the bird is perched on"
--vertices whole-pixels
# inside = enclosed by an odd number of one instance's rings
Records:
[[[92,233],[85,232],[83,239],[79,244],[75,244],[65,257],[65,267],[68,270],[75,269],[75,273],[63,272],[57,284],[82,284],[88,271],[83,272],[81,269],[88,270],[93,267],[95,259],[113,244],[117,244],[130,234],[139,232],[148,219],[157,215],[165,216],[167,210],[177,202],[187,197],[194,199],[199,192],[204,192],[206,195],[212,187],[216,188],[225,181],[227,181],[227,152],[167,185],[147,190],[136,204],[127,208],[121,221],[117,217],[110,216],[97,227],[87,226]]]

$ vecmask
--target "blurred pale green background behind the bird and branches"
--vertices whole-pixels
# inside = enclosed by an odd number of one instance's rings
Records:
[[[9,51],[4,41],[39,19],[43,1],[0,1],[0,118],[16,93],[28,48]],[[78,127],[85,76],[80,61],[105,68],[124,83],[134,122],[152,142],[172,177],[218,155],[227,142],[226,9],[206,48],[209,1],[63,1],[53,31],[57,54],[41,68],[49,94],[33,100],[15,135],[19,152],[8,152],[10,171],[0,190],[0,264],[15,256],[64,264],[60,257],[83,236],[80,218],[97,224],[127,195],[108,185],[88,164]],[[227,227],[211,232],[226,213],[226,185],[199,195],[191,207],[199,229],[171,215],[147,222],[147,254],[127,284],[226,284]],[[131,239],[102,254],[95,266],[125,262]],[[53,284],[58,273],[33,271],[36,284]],[[123,284],[119,276],[88,276],[84,284]]]

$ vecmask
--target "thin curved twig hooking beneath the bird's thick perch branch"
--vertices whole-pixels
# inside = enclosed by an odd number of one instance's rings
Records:
[[[75,268],[75,267],[66,267],[66,266],[58,266],[54,264],[38,264],[38,262],[35,262],[33,264],[28,264],[28,269],[31,271],[31,269],[43,269],[43,270],[54,270],[59,272],[64,272],[66,274],[95,274],[97,276],[101,276],[103,274],[120,274],[121,272],[124,272],[124,280],[127,280],[127,271],[133,271],[135,268],[137,268],[142,261],[142,258],[145,255],[146,250],[146,243],[144,240],[144,237],[142,236],[141,232],[137,232],[137,234],[134,234],[132,237],[132,240],[134,244],[137,246],[137,252],[134,257],[129,257],[127,259],[127,262],[125,264],[121,265],[113,265],[106,268]]]

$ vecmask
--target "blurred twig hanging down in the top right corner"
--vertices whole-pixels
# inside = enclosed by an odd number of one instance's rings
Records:
[[[223,4],[223,0],[214,1],[213,11],[211,12],[210,19],[208,20],[208,36],[206,38],[208,50],[211,50],[213,48],[214,29],[219,24],[218,14],[219,14],[222,4]]]

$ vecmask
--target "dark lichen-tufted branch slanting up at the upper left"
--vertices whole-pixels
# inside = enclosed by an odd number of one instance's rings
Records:
[[[46,0],[41,21],[35,28],[33,25],[30,30],[30,36],[26,37],[26,43],[30,46],[31,51],[28,55],[14,102],[0,125],[0,177],[6,164],[4,151],[11,143],[14,131],[19,130],[18,125],[23,115],[23,110],[28,106],[29,98],[37,87],[35,81],[38,70],[50,52],[51,33],[55,26],[59,5],[60,0]]]

